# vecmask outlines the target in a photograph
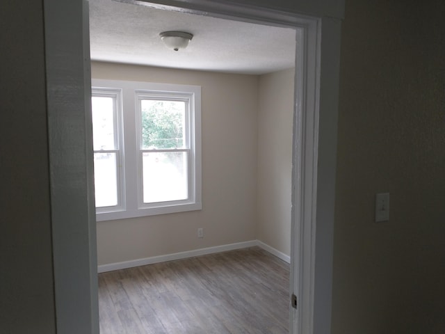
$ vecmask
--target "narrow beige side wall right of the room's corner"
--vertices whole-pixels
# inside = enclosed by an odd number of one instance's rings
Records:
[[[259,77],[257,239],[291,254],[292,124],[295,70]]]

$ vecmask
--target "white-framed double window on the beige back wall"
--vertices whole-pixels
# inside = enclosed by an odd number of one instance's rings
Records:
[[[106,93],[122,108],[106,125],[114,146],[95,145],[95,154],[116,154],[119,162],[95,159],[97,221],[201,209],[200,86],[93,79],[92,109]],[[93,110],[93,137],[102,127]]]

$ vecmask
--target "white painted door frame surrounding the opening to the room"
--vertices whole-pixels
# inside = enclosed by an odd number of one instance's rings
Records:
[[[149,2],[158,8],[297,28],[290,291],[298,296],[298,308],[290,308],[290,333],[330,333],[340,20],[222,0],[125,2]],[[99,333],[86,8],[85,0],[44,0],[58,333],[80,333],[79,312],[86,326],[83,333]],[[72,88],[77,95],[72,96]],[[72,100],[67,102],[67,97]],[[60,129],[66,130],[63,136]],[[81,152],[67,150],[66,136],[70,143],[79,143]],[[81,161],[76,170],[68,170],[81,176],[74,193],[73,180],[63,178],[67,161]],[[82,214],[80,221],[73,219],[74,209],[66,210],[73,202],[78,206],[74,217]],[[82,248],[83,256],[79,256]]]

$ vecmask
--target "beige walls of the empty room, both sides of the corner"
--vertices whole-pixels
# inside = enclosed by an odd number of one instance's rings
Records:
[[[98,222],[99,265],[254,239],[289,255],[293,75],[93,62],[95,79],[202,86],[202,211]]]

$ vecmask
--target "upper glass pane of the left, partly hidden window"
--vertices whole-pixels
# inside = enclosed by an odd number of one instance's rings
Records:
[[[114,133],[114,98],[93,96],[92,110],[92,142],[94,150],[115,150]]]

